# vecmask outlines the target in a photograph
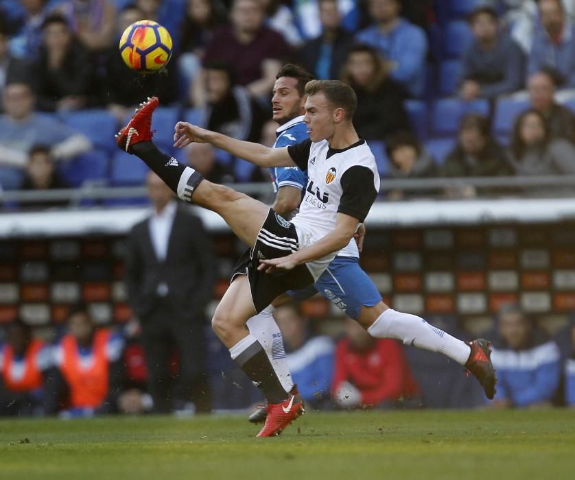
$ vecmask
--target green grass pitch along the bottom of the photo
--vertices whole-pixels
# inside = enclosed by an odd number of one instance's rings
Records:
[[[575,479],[575,410],[1,420],[0,479]],[[29,442],[27,442],[27,439]]]

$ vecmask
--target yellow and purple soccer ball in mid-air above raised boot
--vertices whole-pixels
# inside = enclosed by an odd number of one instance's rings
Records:
[[[124,30],[119,48],[130,69],[154,73],[163,69],[172,57],[172,37],[159,23],[141,20]]]

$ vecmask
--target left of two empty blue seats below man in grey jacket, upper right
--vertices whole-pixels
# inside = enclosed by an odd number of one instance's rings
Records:
[[[432,132],[435,136],[456,134],[459,121],[469,112],[489,116],[489,101],[476,99],[463,101],[458,98],[437,100],[432,108]]]

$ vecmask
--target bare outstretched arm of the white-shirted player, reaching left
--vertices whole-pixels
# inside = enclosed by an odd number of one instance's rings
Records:
[[[200,128],[184,121],[176,124],[174,147],[183,148],[191,143],[211,143],[214,147],[243,158],[259,167],[293,167],[296,165],[288,148],[264,147],[259,143],[232,139],[229,136]]]

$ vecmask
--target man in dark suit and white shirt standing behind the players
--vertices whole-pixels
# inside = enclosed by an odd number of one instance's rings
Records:
[[[147,183],[154,212],[130,232],[126,286],[141,324],[148,389],[156,412],[207,411],[204,326],[215,280],[211,240],[202,221],[176,202],[159,176],[150,172]],[[167,367],[174,348],[180,368],[172,388]]]

